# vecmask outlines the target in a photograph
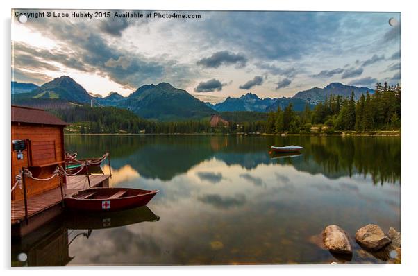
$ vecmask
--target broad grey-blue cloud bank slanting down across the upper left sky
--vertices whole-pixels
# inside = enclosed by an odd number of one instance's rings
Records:
[[[65,21],[41,23],[42,21],[37,21],[31,26],[65,44],[65,51],[36,49],[17,43],[17,62],[22,58],[22,54],[31,54],[38,60],[58,62],[80,71],[96,72],[129,89],[158,81],[183,86],[190,83],[190,78],[197,76],[195,71],[190,70],[190,65],[179,64],[173,60],[146,58],[114,48],[83,21],[74,24],[65,24]]]

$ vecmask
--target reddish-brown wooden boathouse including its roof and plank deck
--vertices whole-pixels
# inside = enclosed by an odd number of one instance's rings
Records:
[[[12,236],[23,236],[62,212],[62,199],[81,189],[108,186],[110,175],[63,175],[67,123],[44,110],[12,105]]]

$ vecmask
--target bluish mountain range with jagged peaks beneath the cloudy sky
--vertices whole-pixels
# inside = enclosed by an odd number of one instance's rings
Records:
[[[296,93],[292,98],[259,98],[256,94],[246,93],[240,98],[226,98],[215,105],[203,103],[187,91],[173,87],[169,83],[158,85],[142,85],[129,96],[122,96],[117,92],[110,92],[106,97],[89,94],[81,85],[69,76],[55,78],[40,87],[31,83],[12,82],[12,103],[21,105],[36,105],[46,108],[51,106],[71,107],[77,104],[99,104],[131,110],[144,119],[158,121],[177,121],[188,119],[203,119],[217,112],[269,112],[281,107],[283,110],[290,103],[295,111],[301,111],[308,103],[312,108],[320,101],[324,101],[330,94],[351,96],[354,92],[356,99],[367,91],[374,90],[366,87],[354,87],[341,83],[331,83],[324,88],[312,88]]]

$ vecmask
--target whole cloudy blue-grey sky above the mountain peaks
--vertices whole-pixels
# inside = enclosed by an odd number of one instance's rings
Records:
[[[18,82],[42,85],[68,75],[103,96],[168,82],[217,102],[247,92],[293,96],[331,82],[401,81],[399,13],[181,11],[201,18],[123,19],[112,10],[106,19],[40,17],[21,24],[15,12],[12,78]],[[390,18],[399,24],[390,26]]]

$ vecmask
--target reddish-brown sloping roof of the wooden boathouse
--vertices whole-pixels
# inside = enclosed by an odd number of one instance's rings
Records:
[[[53,114],[33,107],[12,105],[12,122],[40,123],[44,125],[67,126],[68,123]]]

